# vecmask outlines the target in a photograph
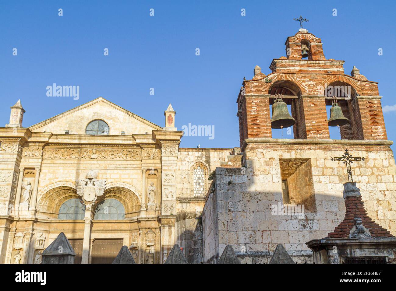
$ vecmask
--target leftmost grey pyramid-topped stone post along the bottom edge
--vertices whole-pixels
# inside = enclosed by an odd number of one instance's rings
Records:
[[[73,247],[63,232],[43,251],[42,264],[74,264]]]

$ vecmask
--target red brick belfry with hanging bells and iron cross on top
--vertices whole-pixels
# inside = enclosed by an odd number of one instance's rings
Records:
[[[296,20],[307,21],[301,19]],[[246,139],[271,139],[272,129],[290,126],[294,139],[330,139],[329,126],[339,127],[341,139],[387,139],[377,82],[356,67],[345,74],[344,61],[326,59],[322,40],[302,24],[285,47],[286,56],[273,59],[268,74],[256,66],[253,78],[242,83],[237,99],[242,151]]]

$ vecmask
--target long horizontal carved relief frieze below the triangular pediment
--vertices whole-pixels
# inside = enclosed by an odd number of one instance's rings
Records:
[[[46,148],[45,159],[86,159],[86,160],[141,160],[141,150],[128,148]]]

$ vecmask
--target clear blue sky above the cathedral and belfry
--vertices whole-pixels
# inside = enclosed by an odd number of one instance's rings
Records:
[[[102,96],[160,126],[169,103],[179,129],[215,126],[214,139],[183,137],[183,147],[239,146],[236,98],[243,77],[250,79],[255,65],[270,72],[272,59],[285,55],[287,36],[298,31],[293,18],[300,15],[322,38],[327,59],[344,60],[347,74],[355,65],[379,82],[383,106],[394,105],[394,3],[2,0],[0,125],[18,99],[27,127]],[[80,86],[80,98],[47,97],[53,83]],[[384,114],[390,140],[396,139],[395,111]]]

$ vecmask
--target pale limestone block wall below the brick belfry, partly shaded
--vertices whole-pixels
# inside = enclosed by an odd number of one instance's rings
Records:
[[[343,183],[348,181],[340,157],[344,145],[248,144],[246,169],[216,169],[216,189],[204,208],[204,261],[221,255],[232,245],[242,262],[267,263],[278,243],[299,263],[312,262],[305,245],[332,232],[345,215]],[[354,181],[362,193],[368,215],[396,235],[396,167],[388,146],[353,145],[354,156],[365,157],[352,164]],[[309,159],[312,165],[315,208],[305,207],[305,217],[279,215],[273,205],[282,200],[280,159]],[[305,192],[305,189],[298,189]],[[217,205],[217,209],[213,207]],[[217,212],[216,224],[212,222]],[[217,236],[218,248],[211,245]],[[217,243],[217,242],[216,242]]]

